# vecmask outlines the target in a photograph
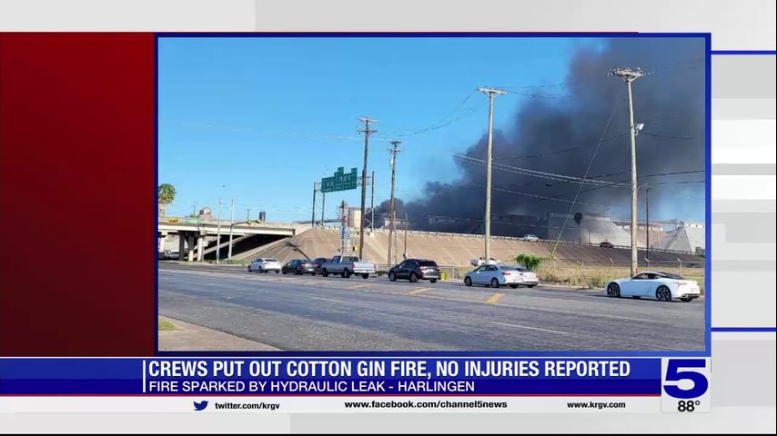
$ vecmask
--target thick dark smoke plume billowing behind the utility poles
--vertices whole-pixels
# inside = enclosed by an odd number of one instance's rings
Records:
[[[611,68],[624,66],[641,67],[650,74],[632,86],[635,124],[645,124],[637,137],[639,183],[659,183],[650,192],[651,217],[701,219],[704,184],[677,183],[704,179],[704,173],[685,173],[703,171],[705,167],[701,38],[614,38],[596,47],[580,45],[571,58],[563,86],[510,89],[516,94],[532,95],[515,109],[507,128],[494,132],[494,163],[583,177],[614,106],[589,178],[629,183],[628,94],[621,79],[608,76]],[[516,82],[521,82],[518,74]],[[510,110],[510,98],[497,97],[500,111]],[[485,159],[485,116],[483,121],[482,138],[461,154]],[[485,165],[461,159],[456,162],[460,173],[457,180],[427,183],[423,200],[397,202],[397,217],[409,213],[410,227],[417,230],[482,233]],[[680,172],[684,174],[652,175]],[[492,183],[491,231],[496,235],[546,235],[546,213],[570,212],[570,202],[580,186],[497,169]],[[630,216],[630,202],[628,188],[585,184],[571,212],[625,218]],[[388,212],[388,201],[376,210],[378,216]],[[570,225],[574,226],[571,220]]]

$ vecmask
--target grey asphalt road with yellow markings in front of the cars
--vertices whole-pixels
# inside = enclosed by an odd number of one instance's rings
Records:
[[[294,351],[698,351],[704,301],[159,263],[159,313]]]

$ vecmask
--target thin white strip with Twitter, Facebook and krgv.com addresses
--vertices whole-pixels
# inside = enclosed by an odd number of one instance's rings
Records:
[[[195,402],[207,407],[195,411]],[[660,413],[661,397],[4,397],[3,412]]]

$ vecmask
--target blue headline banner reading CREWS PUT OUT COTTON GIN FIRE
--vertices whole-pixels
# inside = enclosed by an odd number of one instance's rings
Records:
[[[0,395],[660,395],[661,359],[0,359]]]

